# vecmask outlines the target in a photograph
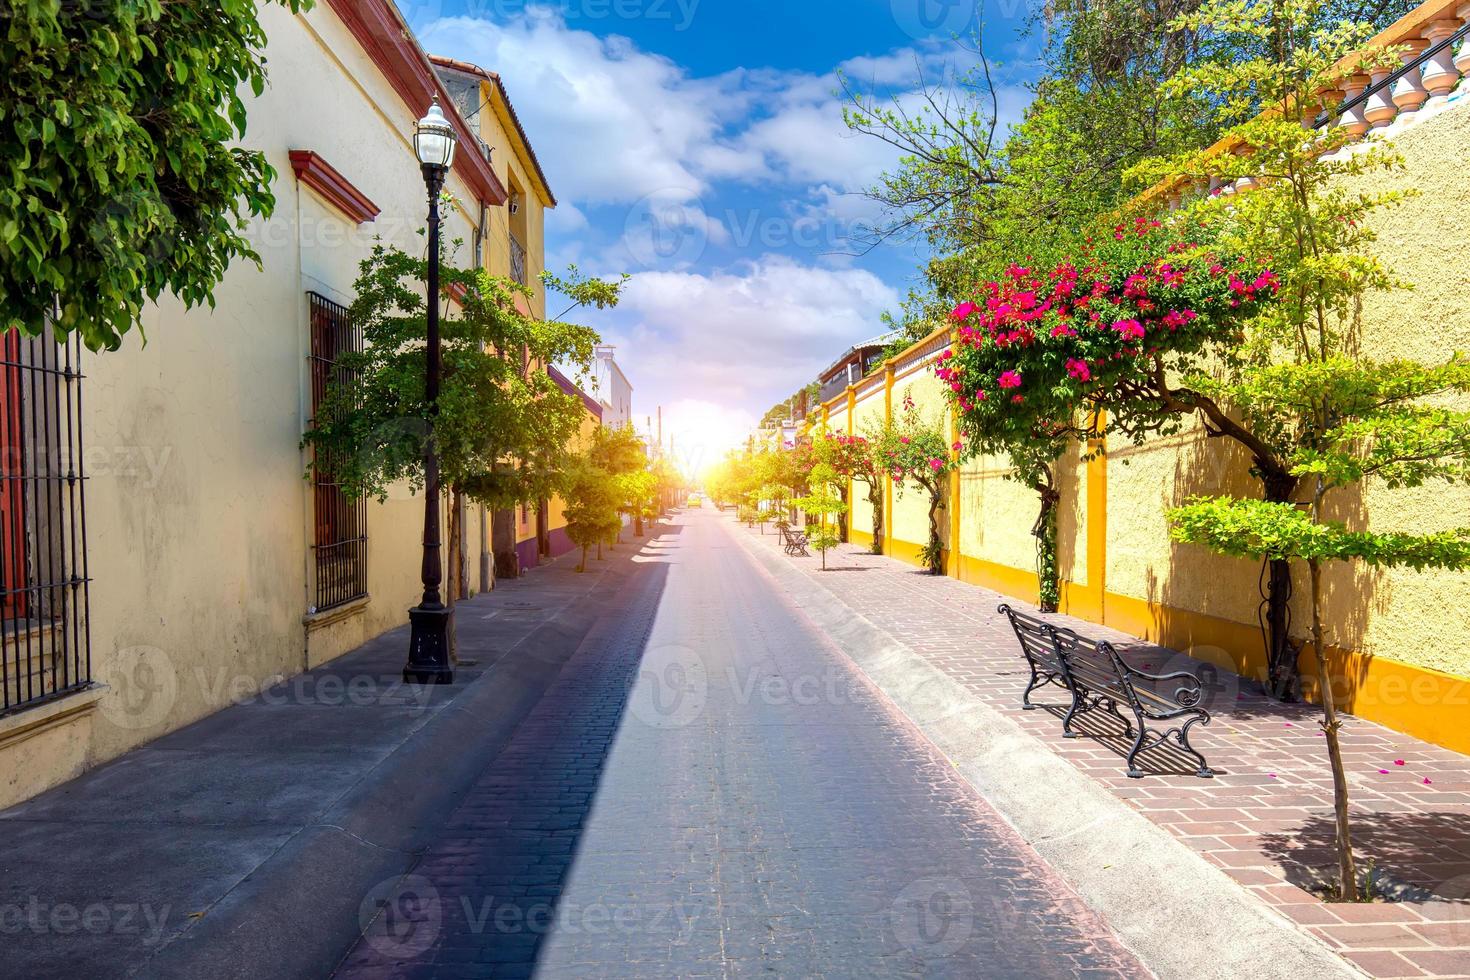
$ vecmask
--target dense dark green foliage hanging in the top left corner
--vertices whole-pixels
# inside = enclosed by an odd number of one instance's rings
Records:
[[[293,12],[310,0],[281,0]],[[116,350],[147,301],[213,304],[275,207],[245,98],[266,84],[254,3],[6,4],[0,323]]]

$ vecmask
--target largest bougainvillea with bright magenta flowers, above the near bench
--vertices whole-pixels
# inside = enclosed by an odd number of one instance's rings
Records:
[[[956,307],[956,344],[935,372],[970,455],[1001,455],[1036,491],[1041,607],[1054,611],[1057,458],[1098,411],[1133,439],[1177,430],[1202,410],[1177,379],[1230,364],[1276,275],[1214,239],[1205,206],[1167,222],[1136,217],[1051,269],[1011,264]],[[1225,414],[1217,406],[1210,406]],[[1207,413],[1208,414],[1208,413]]]

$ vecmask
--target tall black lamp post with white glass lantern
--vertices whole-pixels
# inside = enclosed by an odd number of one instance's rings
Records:
[[[445,608],[440,595],[444,563],[440,560],[440,455],[434,444],[434,419],[440,401],[440,191],[454,162],[454,126],[444,118],[438,98],[419,120],[413,148],[429,188],[428,366],[423,379],[429,426],[423,441],[423,599],[409,610],[409,663],[403,679],[407,683],[447,685],[454,683],[454,669],[450,667],[454,610]]]

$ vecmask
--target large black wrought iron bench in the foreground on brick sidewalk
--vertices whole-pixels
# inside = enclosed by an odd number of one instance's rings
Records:
[[[1000,611],[1010,619],[1020,639],[1022,652],[1030,664],[1030,683],[1022,695],[1023,707],[1036,707],[1030,704],[1030,692],[1048,682],[1072,693],[1072,705],[1061,721],[1063,738],[1078,738],[1072,730],[1072,721],[1085,711],[1101,708],[1122,721],[1125,733],[1133,739],[1127,752],[1129,777],[1142,779],[1145,773],[1138,768],[1138,755],[1169,739],[1198,763],[1195,776],[1201,779],[1214,776],[1204,755],[1189,745],[1189,729],[1195,724],[1210,724],[1210,713],[1200,707],[1204,696],[1200,677],[1188,670],[1167,674],[1144,673],[1129,667],[1107,641],[1094,641],[1075,630],[1058,629],[1045,620],[1017,613],[1008,605],[1001,605]],[[1154,686],[1167,686],[1170,682],[1177,682],[1172,695]],[[1133,716],[1132,721],[1123,716],[1120,705],[1127,705]],[[1148,727],[1150,721],[1177,724],[1157,732]]]

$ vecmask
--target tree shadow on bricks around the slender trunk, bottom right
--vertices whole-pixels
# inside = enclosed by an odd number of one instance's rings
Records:
[[[1338,826],[1330,813],[1308,817],[1295,830],[1261,835],[1261,848],[1286,880],[1320,890],[1336,879]],[[1358,867],[1372,867],[1376,893],[1398,902],[1463,908],[1470,918],[1470,820],[1463,811],[1354,813]],[[1470,943],[1470,926],[1466,926]]]

